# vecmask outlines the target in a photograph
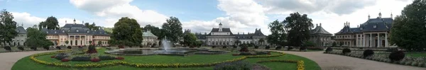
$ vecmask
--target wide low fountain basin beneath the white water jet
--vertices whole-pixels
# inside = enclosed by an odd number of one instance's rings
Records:
[[[107,54],[119,55],[181,55],[186,56],[189,54],[224,54],[228,51],[222,50],[209,50],[209,49],[195,49],[195,48],[173,48],[173,49],[157,49],[157,48],[126,48],[126,49],[113,49],[105,51]]]

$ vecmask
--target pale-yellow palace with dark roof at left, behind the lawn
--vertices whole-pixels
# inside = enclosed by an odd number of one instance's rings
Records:
[[[83,22],[84,23],[84,22]],[[104,31],[103,28],[99,30],[89,30],[85,25],[74,23],[67,23],[60,29],[48,30],[46,27],[42,27],[41,31],[46,33],[46,39],[50,40],[55,46],[84,46],[90,45],[89,41],[92,41],[92,45],[108,46],[108,40],[110,40],[109,34]],[[68,44],[65,43],[68,41]]]

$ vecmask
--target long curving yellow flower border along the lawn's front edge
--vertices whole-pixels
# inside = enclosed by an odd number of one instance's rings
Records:
[[[70,50],[65,50],[70,51]],[[116,65],[124,65],[124,66],[134,66],[134,67],[150,67],[150,68],[180,68],[180,67],[204,67],[204,66],[214,66],[216,64],[221,64],[224,62],[237,62],[244,60],[246,58],[260,58],[260,57],[279,57],[284,55],[284,53],[280,54],[271,54],[271,55],[256,55],[256,56],[244,56],[239,57],[236,59],[229,59],[223,62],[212,62],[212,63],[204,63],[204,64],[197,64],[197,63],[191,63],[191,64],[140,64],[140,63],[131,63],[131,62],[124,62],[124,61],[115,61],[115,62],[104,62],[104,63],[90,63],[90,64],[63,64],[58,62],[45,62],[39,59],[36,59],[35,57],[48,55],[48,54],[58,54],[60,52],[65,51],[58,51],[58,52],[46,52],[46,53],[40,53],[40,54],[33,54],[31,55],[30,59],[38,64],[45,64],[49,66],[60,66],[60,67],[69,67],[69,68],[93,68],[93,67],[103,67],[103,66],[116,66]]]

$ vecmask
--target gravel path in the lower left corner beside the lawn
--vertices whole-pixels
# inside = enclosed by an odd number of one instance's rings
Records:
[[[4,52],[0,53],[0,70],[11,70],[13,64],[18,62],[23,57],[30,56],[31,54],[38,54],[43,52],[53,51],[31,51],[31,52]]]

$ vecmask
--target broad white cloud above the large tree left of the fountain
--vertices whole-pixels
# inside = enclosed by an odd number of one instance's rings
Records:
[[[70,0],[70,3],[77,8],[94,13],[104,19],[102,25],[114,25],[121,17],[135,18],[141,26],[151,24],[160,26],[165,23],[167,16],[152,10],[141,10],[137,6],[130,4],[132,0]],[[117,19],[117,20],[112,20]]]

